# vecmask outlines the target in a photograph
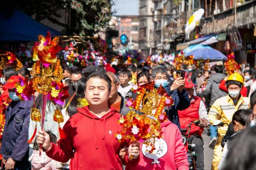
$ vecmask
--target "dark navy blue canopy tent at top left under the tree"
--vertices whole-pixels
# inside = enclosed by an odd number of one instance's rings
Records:
[[[59,31],[39,23],[18,9],[8,19],[5,14],[0,14],[0,41],[38,41],[38,35],[46,35],[47,31],[52,36],[60,35]]]

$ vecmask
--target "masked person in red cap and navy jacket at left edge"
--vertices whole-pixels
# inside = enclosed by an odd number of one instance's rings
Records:
[[[5,112],[5,125],[0,154],[3,155],[5,170],[29,169],[29,118],[33,99],[20,101],[15,92],[15,84],[23,81],[22,76],[11,76],[4,87],[12,102]]]

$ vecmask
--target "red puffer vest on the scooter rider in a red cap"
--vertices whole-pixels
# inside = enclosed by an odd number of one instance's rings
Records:
[[[182,111],[178,110],[181,129],[187,129],[190,122],[198,120],[200,118],[198,111],[201,100],[201,98],[194,96],[194,100],[191,100],[189,108]],[[201,136],[203,130],[203,127],[196,126],[194,123],[192,123],[189,134]]]

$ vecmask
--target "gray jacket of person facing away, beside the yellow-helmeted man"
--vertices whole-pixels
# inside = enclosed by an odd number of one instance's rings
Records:
[[[203,94],[206,100],[210,99],[210,106],[212,106],[215,100],[227,95],[225,91],[219,89],[219,84],[221,83],[221,80],[223,80],[225,77],[225,74],[215,73],[212,74],[208,79]]]

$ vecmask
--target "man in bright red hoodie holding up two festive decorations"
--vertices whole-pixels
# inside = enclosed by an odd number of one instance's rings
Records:
[[[120,114],[108,107],[111,80],[105,73],[94,72],[87,77],[85,96],[89,106],[78,108],[63,127],[66,138],[57,144],[50,142],[45,131],[39,131],[37,143],[42,144],[48,157],[59,162],[71,158],[71,170],[122,170],[118,154],[128,143],[119,143],[115,137],[122,129]],[[125,165],[139,161],[139,143],[132,143],[124,157]],[[131,156],[133,159],[131,160]]]

